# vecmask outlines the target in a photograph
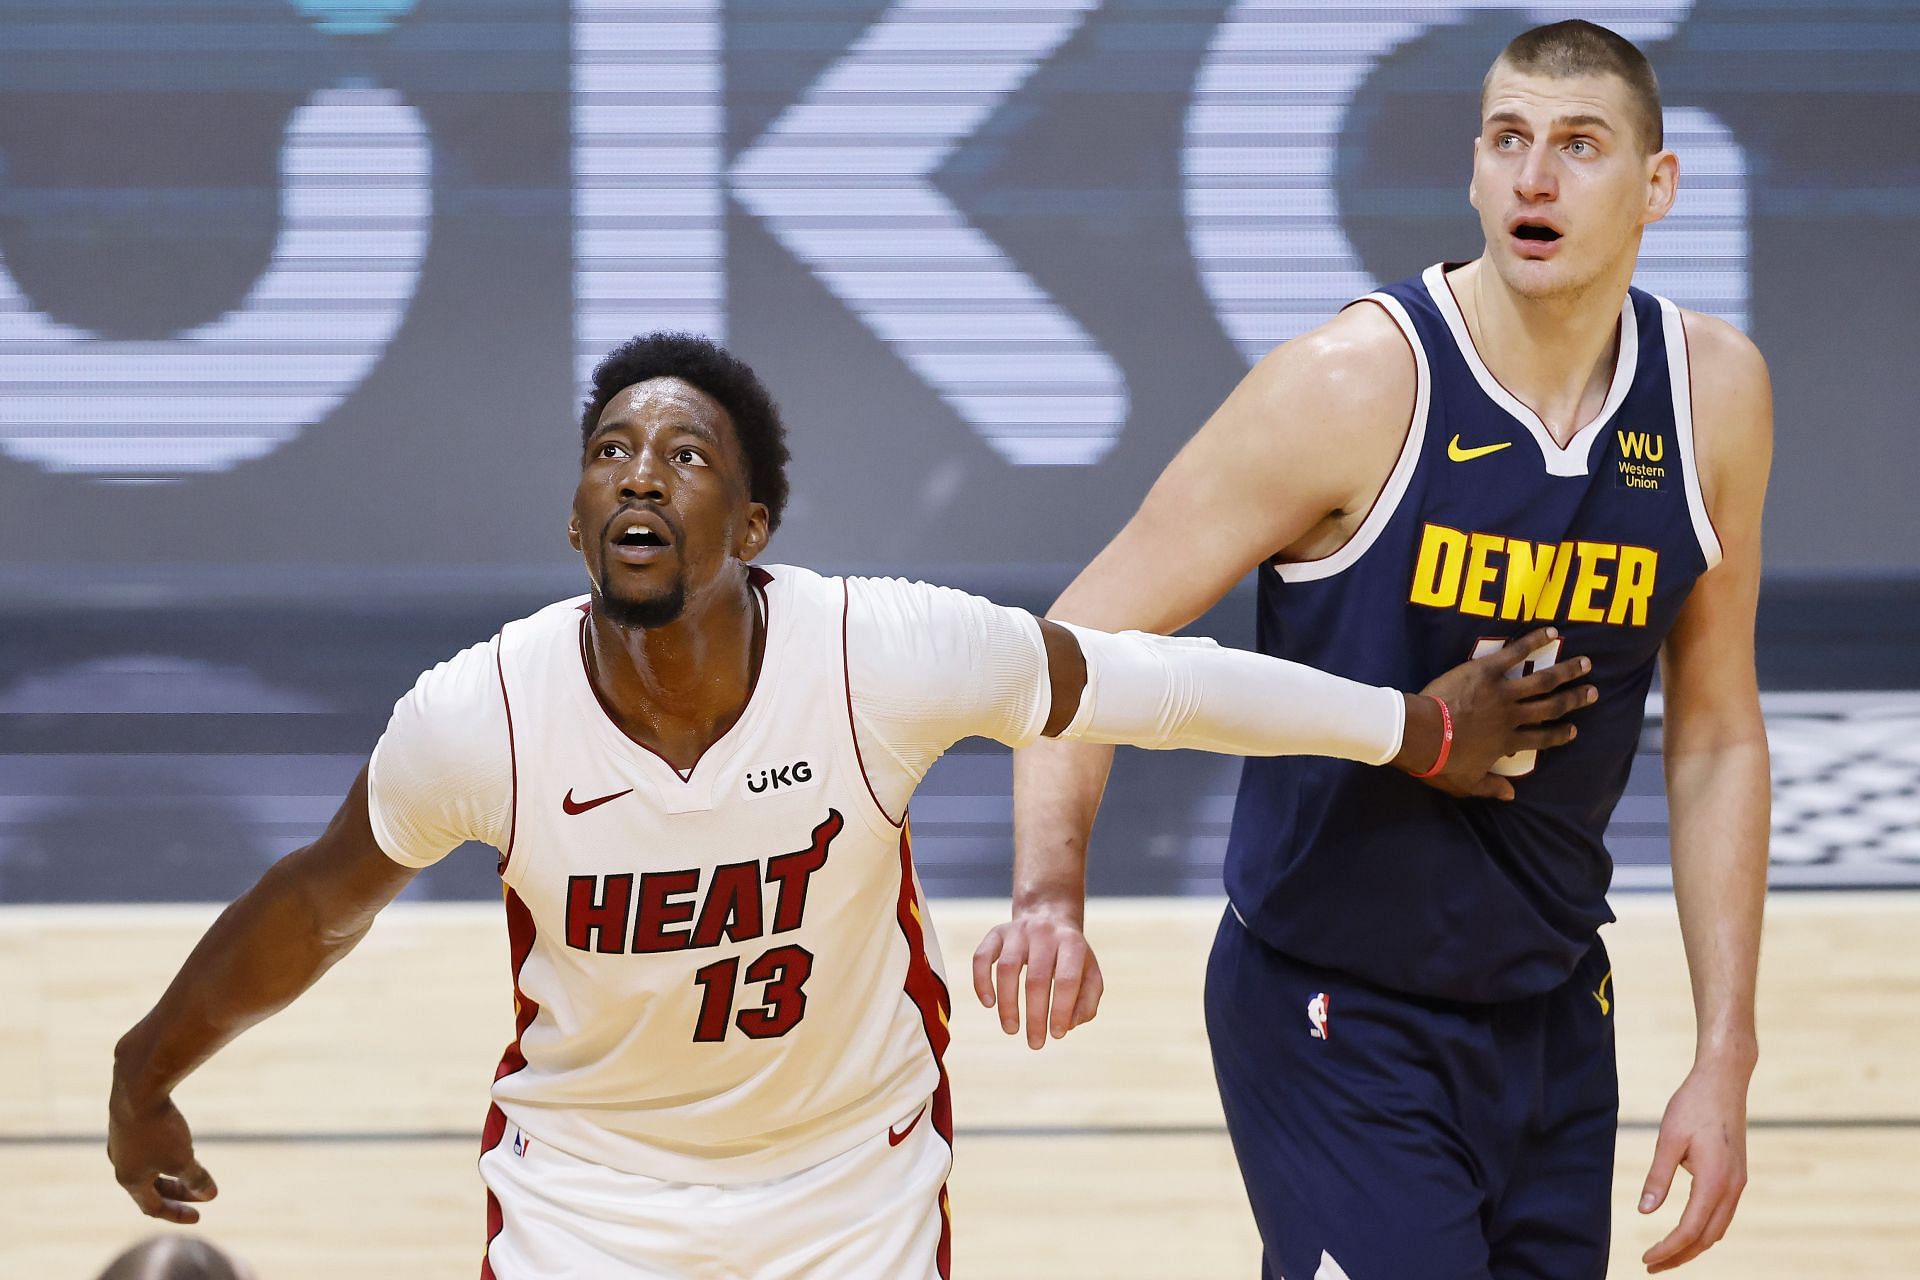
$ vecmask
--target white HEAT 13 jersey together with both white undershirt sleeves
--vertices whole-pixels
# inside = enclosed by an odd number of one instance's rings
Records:
[[[950,1004],[904,800],[954,739],[1039,733],[1039,626],[918,583],[753,581],[753,695],[685,773],[601,706],[584,597],[424,676],[374,750],[390,856],[422,865],[463,839],[503,854],[518,1034],[488,1146],[511,1119],[612,1169],[726,1184],[829,1159],[929,1094],[952,1132]]]

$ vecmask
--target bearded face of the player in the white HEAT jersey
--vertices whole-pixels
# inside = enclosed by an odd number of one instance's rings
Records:
[[[707,391],[634,384],[607,401],[584,453],[566,539],[612,622],[666,626],[766,545],[733,420]]]

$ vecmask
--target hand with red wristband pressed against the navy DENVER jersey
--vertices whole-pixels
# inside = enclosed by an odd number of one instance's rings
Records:
[[[1428,697],[1409,700],[1409,735],[1415,714],[1438,718],[1440,708],[1430,699],[1442,699],[1453,718],[1453,747],[1446,766],[1423,779],[1428,787],[1455,796],[1511,800],[1513,783],[1490,771],[1501,756],[1551,750],[1574,739],[1574,727],[1561,722],[1599,697],[1594,685],[1572,683],[1594,668],[1592,660],[1567,658],[1530,676],[1511,676],[1528,654],[1557,637],[1553,628],[1528,631],[1484,658],[1461,662],[1421,689]],[[1432,741],[1430,750],[1419,752],[1423,758],[1409,760],[1404,750],[1398,760],[1409,773],[1428,768],[1438,756],[1438,737],[1430,733],[1430,725],[1423,725],[1423,737]]]

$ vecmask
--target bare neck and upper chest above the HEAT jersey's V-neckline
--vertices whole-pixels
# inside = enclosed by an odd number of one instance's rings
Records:
[[[745,566],[687,597],[674,622],[624,628],[588,616],[588,677],[620,729],[676,770],[691,770],[747,710],[766,626]]]

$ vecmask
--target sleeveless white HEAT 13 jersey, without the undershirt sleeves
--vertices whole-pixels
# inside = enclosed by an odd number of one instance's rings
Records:
[[[760,578],[753,697],[684,775],[601,708],[580,604],[499,641],[520,1036],[493,1100],[659,1178],[837,1155],[935,1092],[947,1048],[906,833],[854,750],[845,583]]]

